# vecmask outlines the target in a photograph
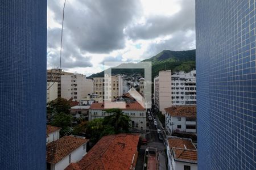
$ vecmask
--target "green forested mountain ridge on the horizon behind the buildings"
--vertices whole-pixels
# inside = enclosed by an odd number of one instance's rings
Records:
[[[185,71],[189,72],[196,69],[196,50],[171,51],[163,50],[156,56],[144,59],[143,61],[152,62],[152,79],[158,75],[161,70]],[[144,75],[143,69],[114,69],[112,74],[141,74]],[[104,71],[92,74],[88,78],[104,77]]]

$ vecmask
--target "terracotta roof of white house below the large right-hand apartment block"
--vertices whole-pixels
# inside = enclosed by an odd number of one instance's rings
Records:
[[[196,117],[196,105],[172,106],[164,110],[171,116]]]

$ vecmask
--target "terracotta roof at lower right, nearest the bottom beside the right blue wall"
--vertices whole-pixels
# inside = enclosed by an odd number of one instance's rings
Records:
[[[197,150],[191,139],[168,137],[168,144],[175,160],[197,163]]]

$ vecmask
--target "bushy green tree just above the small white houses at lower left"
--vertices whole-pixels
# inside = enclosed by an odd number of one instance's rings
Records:
[[[57,126],[61,128],[60,136],[67,135],[71,133],[71,125],[72,125],[72,116],[69,114],[65,114],[63,112],[56,113],[53,116],[53,120],[49,123],[52,126]]]

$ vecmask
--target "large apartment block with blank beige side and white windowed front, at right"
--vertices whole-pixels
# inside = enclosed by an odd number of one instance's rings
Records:
[[[155,107],[164,114],[164,108],[172,105],[196,104],[196,70],[171,73],[159,71],[154,78]]]

